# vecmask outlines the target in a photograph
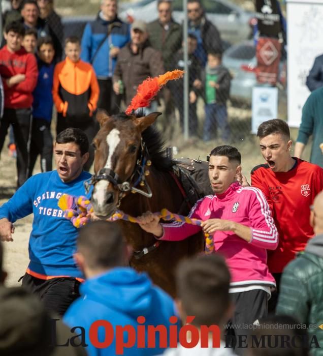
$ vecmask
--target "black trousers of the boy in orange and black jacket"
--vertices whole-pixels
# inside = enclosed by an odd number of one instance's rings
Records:
[[[95,137],[95,135],[98,133],[99,131],[99,124],[98,122],[95,120],[94,117],[90,117],[89,121],[86,123],[79,123],[76,124],[74,121],[70,121],[68,117],[63,117],[61,113],[57,113],[57,126],[56,126],[56,133],[57,135],[67,129],[68,127],[74,127],[77,129],[82,130],[89,142],[89,159],[87,160],[87,162],[84,164],[84,170],[89,171],[91,168],[91,165],[94,161],[94,148],[93,145],[91,144],[93,141],[93,138]]]

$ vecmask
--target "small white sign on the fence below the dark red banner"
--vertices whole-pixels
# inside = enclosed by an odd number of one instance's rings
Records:
[[[251,132],[256,134],[261,123],[278,114],[278,88],[254,86],[252,88]]]

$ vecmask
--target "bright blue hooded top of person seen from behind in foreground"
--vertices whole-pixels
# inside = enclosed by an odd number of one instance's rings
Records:
[[[87,352],[89,356],[112,356],[116,354],[115,327],[132,325],[136,331],[137,317],[146,318],[145,325],[166,325],[169,336],[169,318],[175,313],[172,298],[154,286],[145,273],[132,268],[114,268],[101,275],[86,280],[80,287],[81,298],[76,300],[64,314],[63,321],[70,328],[81,326],[86,330]],[[86,312],[84,312],[86,311]],[[90,325],[96,320],[106,320],[112,324],[114,339],[107,348],[95,348],[89,341]],[[156,336],[158,336],[158,332]],[[127,335],[124,333],[124,335]],[[146,330],[147,336],[147,330]],[[105,329],[99,328],[98,339],[105,340]],[[155,348],[124,348],[124,355],[155,355],[163,353]],[[147,340],[146,340],[147,346]]]

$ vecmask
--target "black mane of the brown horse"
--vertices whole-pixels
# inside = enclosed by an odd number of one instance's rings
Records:
[[[142,116],[142,112],[136,112],[136,117]],[[131,120],[130,116],[123,112],[112,117],[115,120]],[[165,140],[161,137],[160,132],[154,126],[149,126],[142,132],[142,138],[153,166],[159,171],[171,170],[174,163],[170,158],[166,157]]]

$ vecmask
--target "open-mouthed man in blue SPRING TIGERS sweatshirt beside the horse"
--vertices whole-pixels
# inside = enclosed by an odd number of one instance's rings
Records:
[[[91,175],[83,171],[88,159],[88,140],[79,129],[69,128],[56,137],[56,170],[30,177],[0,207],[0,239],[13,241],[13,223],[34,214],[29,238],[29,265],[22,285],[38,294],[45,307],[62,315],[79,296],[83,274],[73,253],[77,229],[63,217],[57,202],[62,194],[85,195],[84,181]]]

